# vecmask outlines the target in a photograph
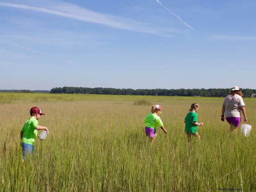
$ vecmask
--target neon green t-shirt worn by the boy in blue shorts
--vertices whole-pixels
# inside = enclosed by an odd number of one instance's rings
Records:
[[[35,129],[38,126],[38,120],[34,117],[30,117],[22,127],[21,131],[23,132],[23,137],[21,139],[22,143],[27,143],[34,145],[37,130]]]

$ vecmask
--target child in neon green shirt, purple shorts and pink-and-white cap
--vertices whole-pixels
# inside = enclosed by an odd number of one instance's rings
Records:
[[[146,123],[145,133],[150,138],[152,145],[157,137],[157,127],[160,127],[164,133],[167,133],[161,118],[158,116],[161,113],[161,110],[162,108],[160,105],[153,105],[151,108],[151,113],[148,114],[144,119],[144,123]]]

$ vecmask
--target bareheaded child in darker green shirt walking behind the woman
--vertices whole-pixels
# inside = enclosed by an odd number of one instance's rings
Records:
[[[185,133],[187,134],[188,146],[191,144],[191,135],[200,139],[200,135],[197,132],[197,126],[202,126],[203,122],[197,122],[197,114],[196,112],[199,109],[199,104],[192,103],[189,109],[187,116],[185,117]]]

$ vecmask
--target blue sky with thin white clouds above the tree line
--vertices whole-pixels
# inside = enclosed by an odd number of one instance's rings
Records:
[[[256,88],[254,0],[0,0],[0,90]]]

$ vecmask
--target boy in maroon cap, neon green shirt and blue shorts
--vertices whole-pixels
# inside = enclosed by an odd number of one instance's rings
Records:
[[[45,115],[41,112],[39,107],[32,107],[30,109],[31,117],[25,122],[20,131],[21,145],[22,145],[22,162],[25,160],[26,154],[31,154],[34,150],[34,142],[37,135],[37,130],[45,130],[47,134],[49,131],[47,127],[38,125],[40,115]]]

